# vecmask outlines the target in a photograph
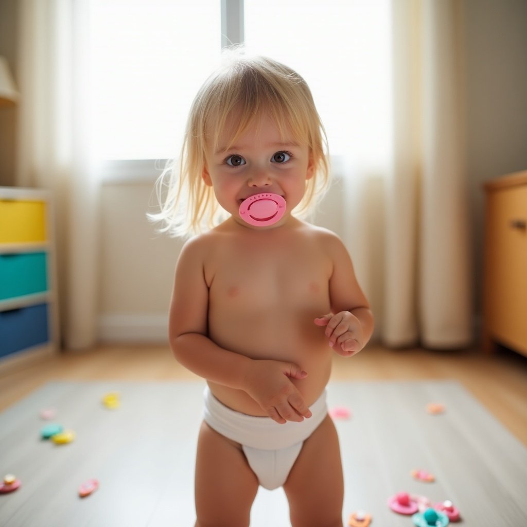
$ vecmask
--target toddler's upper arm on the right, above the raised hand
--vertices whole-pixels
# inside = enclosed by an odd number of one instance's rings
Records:
[[[344,243],[333,233],[328,234],[324,242],[333,263],[333,272],[329,279],[332,313],[351,311],[359,307],[369,308],[368,300],[360,288],[352,259]]]

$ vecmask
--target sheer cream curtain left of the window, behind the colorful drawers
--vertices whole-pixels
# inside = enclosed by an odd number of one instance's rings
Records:
[[[91,149],[87,2],[21,0],[17,185],[50,189],[55,206],[61,336],[96,339],[99,183]]]

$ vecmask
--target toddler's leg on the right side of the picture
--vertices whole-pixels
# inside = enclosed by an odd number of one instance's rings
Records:
[[[329,416],[304,442],[284,491],[293,527],[342,527],[344,477]]]

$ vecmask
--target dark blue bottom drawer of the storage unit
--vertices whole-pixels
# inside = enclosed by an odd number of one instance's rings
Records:
[[[49,340],[47,304],[0,311],[0,357]]]

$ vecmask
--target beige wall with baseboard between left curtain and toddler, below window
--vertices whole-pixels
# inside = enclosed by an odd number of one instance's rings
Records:
[[[146,217],[153,181],[102,189],[99,330],[104,340],[166,340],[175,261],[182,242]]]

